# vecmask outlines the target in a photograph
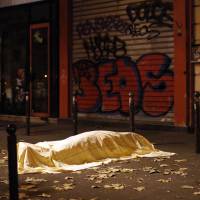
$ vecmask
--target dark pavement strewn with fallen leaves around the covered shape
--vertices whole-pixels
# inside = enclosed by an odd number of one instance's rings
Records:
[[[36,143],[61,140],[73,134],[72,124],[31,127],[31,135],[19,124],[18,141]],[[20,128],[21,127],[21,128]],[[114,127],[114,128],[113,128]],[[89,130],[127,131],[128,124],[81,123]],[[200,198],[200,155],[195,137],[184,131],[139,130],[156,148],[175,152],[170,158],[140,158],[59,174],[19,175],[20,199],[54,200],[197,200]],[[6,132],[0,129],[0,199],[9,199]]]

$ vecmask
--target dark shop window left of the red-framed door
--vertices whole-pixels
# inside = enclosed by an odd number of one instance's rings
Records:
[[[0,33],[1,113],[25,114],[25,27],[8,27]]]

